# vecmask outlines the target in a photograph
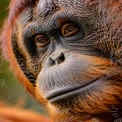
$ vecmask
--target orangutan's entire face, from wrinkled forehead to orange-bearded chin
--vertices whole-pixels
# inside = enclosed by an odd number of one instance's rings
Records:
[[[40,0],[18,16],[13,52],[54,121],[108,122],[114,107],[121,110],[122,27],[115,23],[86,0]]]

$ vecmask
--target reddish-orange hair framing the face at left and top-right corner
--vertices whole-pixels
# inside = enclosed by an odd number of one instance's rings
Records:
[[[99,9],[107,12],[107,18],[109,20],[114,20],[114,27],[119,27],[122,29],[122,0],[83,0],[85,3],[90,6],[98,4]],[[11,66],[13,67],[18,79],[22,82],[24,86],[27,86],[27,90],[34,95],[34,88],[31,83],[28,82],[27,78],[17,65],[16,59],[12,52],[11,47],[11,32],[13,29],[13,25],[16,21],[17,16],[21,13],[21,11],[30,5],[36,5],[38,0],[11,0],[9,5],[9,15],[6,19],[3,31],[0,37],[2,40],[2,50],[3,54],[7,59],[9,59]]]

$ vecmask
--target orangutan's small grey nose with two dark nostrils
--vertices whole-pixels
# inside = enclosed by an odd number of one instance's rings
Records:
[[[59,65],[65,61],[65,55],[64,52],[54,52],[52,53],[48,58],[48,64],[50,66]]]

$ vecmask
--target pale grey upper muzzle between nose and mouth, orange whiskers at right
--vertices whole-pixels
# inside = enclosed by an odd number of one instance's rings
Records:
[[[76,55],[66,59],[58,66],[44,66],[37,78],[37,87],[45,98],[48,93],[74,86],[88,84],[102,77],[109,66],[108,60],[96,57]]]

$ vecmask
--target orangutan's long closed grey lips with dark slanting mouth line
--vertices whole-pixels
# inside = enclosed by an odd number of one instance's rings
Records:
[[[50,93],[48,93],[45,97],[47,100],[49,100],[51,103],[61,101],[64,99],[68,99],[73,96],[80,95],[84,93],[86,90],[88,90],[89,87],[94,86],[96,83],[98,83],[100,78],[96,78],[95,80],[90,81],[87,84],[84,85],[75,85],[65,88],[58,88],[56,90],[52,90]]]

